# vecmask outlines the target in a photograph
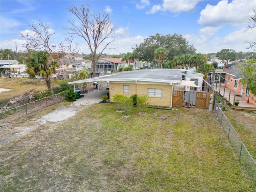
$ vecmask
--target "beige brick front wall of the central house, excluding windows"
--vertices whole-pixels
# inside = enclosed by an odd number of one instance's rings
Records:
[[[123,93],[123,85],[129,85],[129,93]],[[113,96],[117,93],[125,95],[127,97],[130,97],[134,94],[137,94],[137,95],[148,94],[148,88],[162,89],[162,97],[150,96],[150,105],[154,105],[154,106],[170,106],[171,105],[172,85],[158,85],[158,84],[110,83],[109,84],[110,101],[113,102]]]

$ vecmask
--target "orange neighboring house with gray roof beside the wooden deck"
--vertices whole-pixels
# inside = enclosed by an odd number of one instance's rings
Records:
[[[236,95],[238,96],[242,96],[246,99],[249,98],[249,102],[256,105],[256,102],[254,102],[256,100],[256,96],[252,95],[249,87],[246,84],[242,84],[240,82],[241,76],[239,75],[239,72],[239,68],[233,68],[224,72],[226,74],[225,87],[236,92]]]

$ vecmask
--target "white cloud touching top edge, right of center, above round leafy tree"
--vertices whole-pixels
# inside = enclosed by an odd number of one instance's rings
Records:
[[[147,14],[154,14],[158,11],[168,11],[172,13],[190,12],[195,9],[200,0],[164,0],[162,5],[154,5]]]

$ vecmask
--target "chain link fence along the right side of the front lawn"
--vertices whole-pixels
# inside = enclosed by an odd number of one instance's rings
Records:
[[[238,136],[236,130],[229,122],[223,111],[220,109],[217,102],[214,104],[214,114],[218,117],[218,121],[222,125],[224,132],[226,133],[228,140],[230,141],[235,153],[237,154],[239,161],[244,166],[248,174],[253,178],[256,184],[256,162],[244,143]]]

